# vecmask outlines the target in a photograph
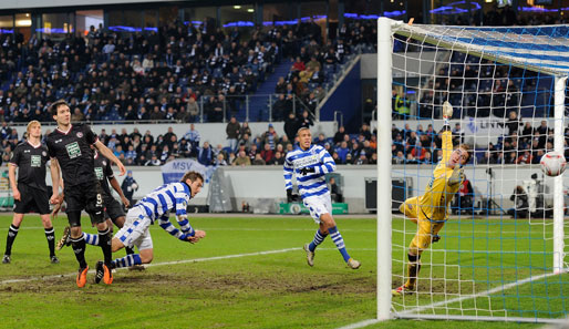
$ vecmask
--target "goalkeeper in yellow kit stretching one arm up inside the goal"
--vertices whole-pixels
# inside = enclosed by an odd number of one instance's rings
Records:
[[[447,219],[448,205],[464,181],[462,166],[470,158],[469,147],[465,144],[453,147],[453,134],[448,125],[448,119],[452,116],[453,106],[445,102],[443,104],[444,127],[442,131],[443,158],[433,171],[433,177],[425,193],[418,197],[406,199],[400,206],[400,210],[418,227],[408,245],[407,281],[392,291],[394,296],[412,294],[415,290],[421,270],[421,254],[428,248],[431,243],[438,241],[438,232]]]

